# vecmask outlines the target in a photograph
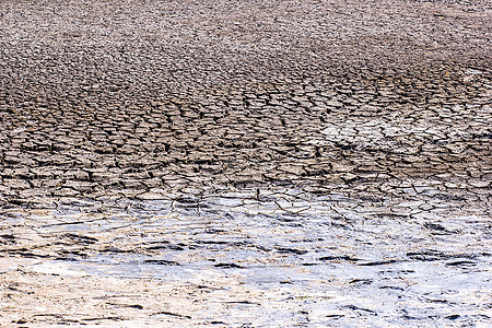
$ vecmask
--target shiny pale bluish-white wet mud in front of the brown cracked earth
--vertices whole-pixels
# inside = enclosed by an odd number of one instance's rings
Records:
[[[235,190],[115,203],[5,218],[2,233],[15,222],[19,236],[9,256],[26,258],[8,271],[189,288],[178,298],[200,306],[177,316],[189,325],[485,326],[492,316],[490,218],[445,201],[422,211]]]

